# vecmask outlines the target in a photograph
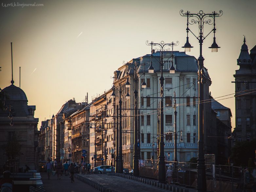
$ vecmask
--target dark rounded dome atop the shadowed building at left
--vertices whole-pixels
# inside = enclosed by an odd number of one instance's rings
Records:
[[[9,97],[8,98],[9,100],[25,100],[25,101],[27,101],[27,96],[24,93],[24,91],[21,88],[16,87],[13,84],[4,88],[2,91],[7,94],[7,96]]]

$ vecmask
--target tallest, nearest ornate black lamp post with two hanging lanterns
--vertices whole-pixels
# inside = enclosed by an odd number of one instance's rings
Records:
[[[205,174],[205,158],[204,158],[204,123],[203,123],[203,103],[204,100],[204,90],[203,83],[205,82],[205,72],[204,72],[204,58],[202,56],[202,45],[205,38],[213,31],[213,44],[209,47],[211,48],[211,52],[217,52],[218,48],[220,48],[215,42],[215,17],[220,17],[222,15],[222,10],[219,13],[213,11],[212,13],[204,13],[202,10],[199,13],[190,13],[189,11],[183,13],[183,10],[180,10],[180,15],[187,17],[187,42],[183,46],[185,51],[190,51],[192,48],[189,43],[188,33],[189,31],[195,36],[195,38],[199,41],[200,44],[200,56],[198,58],[198,67],[199,67],[199,102],[198,102],[198,158],[197,158],[197,191],[204,192],[207,190],[206,186],[206,174]],[[189,24],[198,24],[199,34],[196,36],[189,28]],[[213,24],[213,29],[204,36],[204,24]]]

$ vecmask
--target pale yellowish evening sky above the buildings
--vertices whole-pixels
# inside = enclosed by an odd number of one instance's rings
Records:
[[[256,44],[254,0],[11,0],[0,3],[0,87],[10,85],[13,43],[13,79],[26,93],[28,105],[36,105],[35,117],[41,121],[56,114],[73,97],[89,102],[112,86],[113,72],[133,58],[150,54],[147,40],[158,43],[179,41],[175,51],[186,41],[186,18],[179,11],[205,13],[223,11],[216,18],[216,43],[213,34],[203,43],[204,66],[212,84],[211,95],[233,94],[233,75],[239,69],[237,59],[246,36],[250,50]],[[17,5],[19,3],[19,5]],[[23,3],[43,4],[28,6]],[[13,4],[14,5],[14,4]],[[190,29],[198,34],[198,26]],[[205,35],[212,29],[205,25]],[[190,33],[194,47],[188,55],[199,56],[199,43]],[[223,97],[225,98],[225,97]],[[232,112],[235,127],[235,99],[219,100]]]

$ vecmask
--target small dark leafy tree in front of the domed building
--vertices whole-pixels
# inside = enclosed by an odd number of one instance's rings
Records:
[[[18,137],[15,132],[12,134],[12,137],[8,139],[6,154],[8,159],[15,159],[18,156],[21,149],[21,145],[18,141]]]

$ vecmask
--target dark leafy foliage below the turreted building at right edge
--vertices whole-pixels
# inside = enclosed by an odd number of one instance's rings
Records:
[[[230,156],[230,159],[234,161],[234,166],[248,166],[249,158],[254,159],[255,149],[256,140],[236,142],[235,146],[231,149]],[[250,166],[253,166],[252,163],[250,163]]]

